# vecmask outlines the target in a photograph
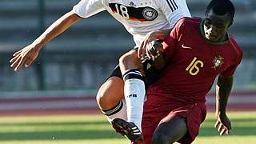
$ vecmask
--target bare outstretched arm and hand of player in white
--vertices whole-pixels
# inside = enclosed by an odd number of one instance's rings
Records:
[[[45,46],[47,42],[50,42],[51,39],[57,37],[59,34],[62,34],[62,32],[80,19],[82,18],[74,14],[73,11],[58,18],[58,20],[49,26],[34,42],[13,54],[13,58],[10,59],[10,67],[14,67],[14,70],[17,71],[23,65],[25,65],[25,67],[30,66],[38,57],[38,52],[42,49],[42,46]]]

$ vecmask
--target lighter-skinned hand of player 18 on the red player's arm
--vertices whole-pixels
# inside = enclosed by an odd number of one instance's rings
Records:
[[[142,41],[141,46],[138,47],[138,58],[144,59],[146,57],[146,46],[150,44],[150,42],[156,41],[157,36],[154,31],[146,34],[146,37]]]

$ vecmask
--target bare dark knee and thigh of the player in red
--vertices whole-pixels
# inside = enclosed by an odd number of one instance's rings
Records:
[[[173,143],[182,138],[187,132],[186,118],[178,115],[168,115],[163,118],[152,138],[153,144]]]

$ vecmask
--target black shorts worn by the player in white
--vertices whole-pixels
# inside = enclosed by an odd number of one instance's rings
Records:
[[[138,48],[134,48],[132,50],[138,50]],[[146,87],[148,87],[148,86],[150,86],[150,84],[152,84],[159,78],[159,72],[157,70],[154,70],[154,66],[152,66],[152,61],[149,59],[143,60],[142,66],[143,66],[143,69],[146,74],[145,84],[146,84]],[[110,74],[110,77],[122,78],[122,73],[121,73],[119,65],[115,66],[112,74]]]

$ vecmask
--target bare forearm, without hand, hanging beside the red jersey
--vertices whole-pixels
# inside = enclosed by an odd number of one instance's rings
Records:
[[[216,114],[226,114],[226,106],[233,86],[233,77],[218,77],[216,86]]]

